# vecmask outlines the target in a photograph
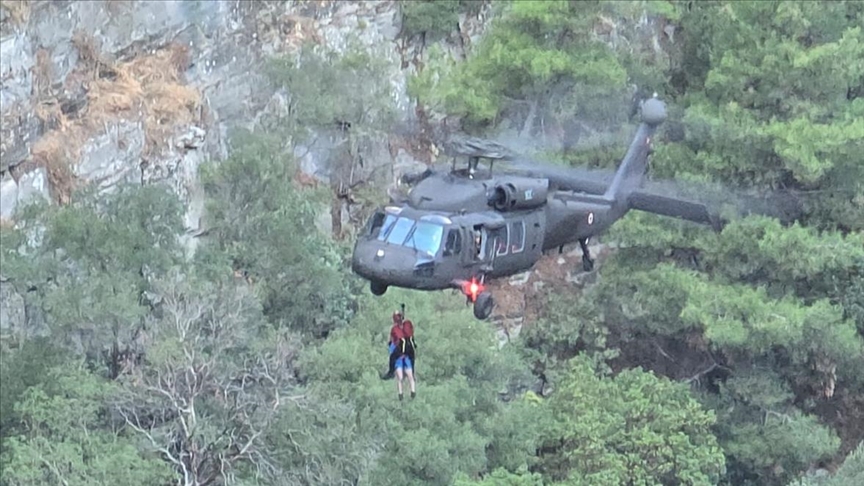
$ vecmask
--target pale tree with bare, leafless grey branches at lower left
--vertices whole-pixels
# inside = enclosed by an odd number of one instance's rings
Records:
[[[248,465],[255,478],[279,477],[264,435],[281,407],[303,398],[292,386],[297,339],[267,324],[242,281],[177,272],[150,298],[156,310],[114,412],[181,484],[230,483]]]

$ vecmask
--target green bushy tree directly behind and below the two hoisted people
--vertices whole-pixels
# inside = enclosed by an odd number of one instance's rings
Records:
[[[404,403],[396,400],[393,382],[379,378],[387,366],[389,315],[400,302],[414,322],[418,347],[418,394]],[[537,437],[532,412],[539,410],[498,400],[528,379],[514,358],[497,349],[489,327],[469,308],[454,308],[452,298],[391,289],[362,299],[352,326],[305,353],[300,369],[320,396],[355,405],[360,433],[383,438],[370,481],[451,484],[460,471],[528,465]]]

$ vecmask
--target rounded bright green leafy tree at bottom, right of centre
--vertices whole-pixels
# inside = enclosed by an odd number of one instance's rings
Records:
[[[583,357],[549,400],[543,470],[567,484],[715,484],[714,413],[684,385],[639,369],[614,378]]]

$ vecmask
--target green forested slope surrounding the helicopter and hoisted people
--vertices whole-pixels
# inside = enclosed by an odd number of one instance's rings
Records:
[[[431,42],[475,7],[407,3],[404,35]],[[645,12],[670,27],[663,45],[614,40],[606,20]],[[331,195],[300,184],[286,153],[333,119],[351,123],[346,157],[392,128],[386,96],[316,83],[384,83],[375,56],[277,61],[290,109],[202,169],[209,233],[192,258],[182,204],[157,185],[85,190],[2,229],[3,277],[45,332],[0,341],[0,482],[864,482],[862,4],[493,13],[467,59],[428,49],[411,91],[430,120],[557,130],[578,143],[551,158],[611,167],[624,147],[592,145],[590,127],[626,128],[635,84],[671,107],[652,176],[782,189],[805,214],[719,234],[628,215],[604,238],[619,249],[597,284],[550,286],[499,348],[458,296],[368,295],[346,265],[350,239],[315,229]],[[383,196],[369,188],[357,204]],[[418,342],[405,402],[378,376],[401,302]]]

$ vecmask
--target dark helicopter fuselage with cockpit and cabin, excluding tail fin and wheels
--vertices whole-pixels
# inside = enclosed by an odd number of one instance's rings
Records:
[[[488,201],[508,186],[521,198],[497,210]],[[431,175],[407,203],[372,216],[357,240],[353,269],[384,286],[462,288],[472,278],[529,270],[544,251],[589,238],[626,210],[602,196],[557,194],[546,179]]]

